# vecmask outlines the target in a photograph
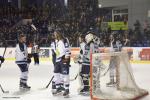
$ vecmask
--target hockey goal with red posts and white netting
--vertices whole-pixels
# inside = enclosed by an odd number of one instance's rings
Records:
[[[126,52],[92,54],[90,74],[92,100],[135,100],[148,94],[137,86]]]

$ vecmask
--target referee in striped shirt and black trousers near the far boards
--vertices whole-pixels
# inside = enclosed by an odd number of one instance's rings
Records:
[[[40,51],[40,47],[39,47],[39,45],[36,42],[33,43],[33,47],[32,47],[31,51],[32,51],[32,55],[34,57],[34,64],[35,65],[39,65],[39,51]]]

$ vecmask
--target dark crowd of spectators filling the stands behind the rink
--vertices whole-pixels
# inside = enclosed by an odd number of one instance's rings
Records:
[[[47,8],[49,8],[47,6]],[[57,7],[56,7],[57,8]],[[77,15],[66,15],[65,18],[61,14],[54,16],[41,8],[32,6],[29,8],[0,8],[0,47],[6,45],[14,47],[17,42],[18,34],[23,32],[27,35],[27,44],[30,46],[34,41],[40,46],[50,46],[50,36],[54,29],[59,29],[64,37],[67,37],[72,47],[79,46],[78,37],[80,34],[86,34],[91,30],[100,38],[101,47],[109,46],[109,38],[113,31],[110,27],[107,30],[101,30],[101,23],[107,16],[96,16],[92,14],[91,9],[79,7],[81,12]],[[74,17],[73,17],[74,16]],[[67,18],[66,18],[67,17]],[[26,25],[17,25],[21,19],[32,19],[32,23]],[[34,24],[37,30],[33,30],[31,24]],[[142,25],[138,20],[134,24],[134,29],[115,31],[122,43],[127,42],[125,46],[148,47],[150,46],[150,25],[147,21]]]

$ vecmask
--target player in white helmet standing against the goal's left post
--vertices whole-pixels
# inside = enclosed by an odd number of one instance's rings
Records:
[[[84,47],[84,54],[83,54],[83,62],[82,68],[80,72],[80,76],[83,81],[83,88],[80,90],[80,94],[89,93],[89,78],[90,78],[90,53],[95,53],[97,50],[95,48],[95,44],[93,42],[94,35],[89,32],[85,36],[86,45]]]

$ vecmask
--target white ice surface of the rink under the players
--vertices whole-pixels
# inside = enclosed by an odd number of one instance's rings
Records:
[[[140,88],[150,92],[150,64],[148,63],[132,63],[135,81]],[[78,64],[71,63],[70,79],[73,79],[78,73]],[[78,94],[78,79],[70,82],[70,97],[53,96],[51,94],[51,85],[45,88],[53,75],[53,64],[43,61],[39,66],[35,66],[33,62],[29,68],[28,84],[31,86],[30,91],[19,91],[19,75],[20,71],[14,61],[6,61],[0,68],[0,84],[5,91],[0,90],[0,100],[90,100],[88,96]],[[140,100],[150,100],[150,95]]]

